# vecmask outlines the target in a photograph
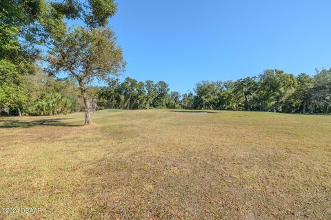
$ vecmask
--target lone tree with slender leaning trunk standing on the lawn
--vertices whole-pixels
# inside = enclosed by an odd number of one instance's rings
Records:
[[[85,124],[92,123],[92,103],[88,87],[95,81],[107,81],[123,72],[126,62],[110,28],[73,28],[54,43],[50,53],[50,71],[65,72],[77,80],[83,97]]]

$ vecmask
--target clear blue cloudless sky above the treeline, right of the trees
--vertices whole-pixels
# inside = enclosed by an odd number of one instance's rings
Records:
[[[330,0],[117,0],[110,19],[128,62],[123,77],[173,91],[264,69],[294,75],[331,66]]]

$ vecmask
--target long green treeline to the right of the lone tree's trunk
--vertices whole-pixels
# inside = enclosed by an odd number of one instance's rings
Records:
[[[202,81],[194,92],[179,94],[160,81],[145,83],[114,78],[102,87],[99,108],[114,109],[217,109],[235,111],[277,111],[289,113],[330,113],[331,69],[314,76],[295,77],[268,69],[259,76],[237,81]]]

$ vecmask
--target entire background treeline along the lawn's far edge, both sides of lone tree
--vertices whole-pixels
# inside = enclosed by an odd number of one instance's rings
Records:
[[[83,111],[83,99],[73,80],[57,79],[37,70],[21,79],[19,87],[0,83],[1,114],[54,115]],[[108,81],[106,87],[90,87],[97,109],[215,109],[330,113],[331,69],[314,76],[265,70],[236,81],[202,81],[192,92],[170,91],[167,83],[139,82],[126,78]]]

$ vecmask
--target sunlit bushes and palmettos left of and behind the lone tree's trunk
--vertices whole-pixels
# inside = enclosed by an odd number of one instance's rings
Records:
[[[55,79],[41,71],[26,76],[20,86],[0,87],[1,113],[7,115],[65,114],[81,111],[80,102],[79,90],[72,80]]]

